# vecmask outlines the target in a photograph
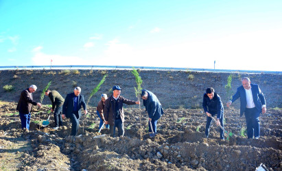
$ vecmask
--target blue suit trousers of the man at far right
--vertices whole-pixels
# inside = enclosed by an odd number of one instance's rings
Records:
[[[246,108],[245,117],[248,138],[252,138],[253,135],[255,135],[255,137],[259,137],[259,110],[256,107],[252,109]]]

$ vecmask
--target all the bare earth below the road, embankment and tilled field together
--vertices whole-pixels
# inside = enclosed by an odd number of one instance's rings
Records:
[[[215,124],[209,139],[204,135],[206,116],[201,109],[202,94],[207,87],[213,87],[225,103],[224,86],[230,73],[141,70],[143,88],[154,92],[165,109],[158,121],[158,134],[149,136],[148,114],[144,109],[139,111],[135,105],[125,105],[125,136],[113,138],[108,136],[108,129],[97,133],[99,119],[93,106],[99,101],[99,94],[110,95],[113,85],[123,88],[122,96],[136,99],[136,83],[130,70],[80,70],[78,75],[60,72],[0,71],[0,86],[14,86],[12,92],[0,88],[1,170],[255,170],[261,163],[269,170],[282,170],[281,75],[233,74],[233,92],[240,85],[240,78],[250,77],[265,94],[268,111],[261,115],[259,140],[248,140],[243,131],[246,121],[239,117],[239,102],[236,102],[233,108],[224,111],[225,128],[234,135],[229,140],[220,140]],[[40,127],[40,122],[48,117],[49,98],[44,98],[45,105],[40,111],[34,107],[30,131],[21,130],[15,108],[24,88],[31,84],[38,86],[34,93],[38,101],[48,81],[52,81],[50,88],[62,96],[73,91],[75,81],[88,99],[106,73],[105,83],[91,98],[89,115],[80,121],[77,137],[69,136],[69,120],[64,120],[58,131],[51,129],[53,116],[48,127]],[[189,75],[194,78],[188,79]]]

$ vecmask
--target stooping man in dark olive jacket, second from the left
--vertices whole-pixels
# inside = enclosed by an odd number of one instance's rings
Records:
[[[64,104],[64,98],[56,90],[46,90],[45,95],[49,96],[52,107],[51,112],[54,111],[54,121],[55,127],[53,129],[57,130],[62,126],[62,105]]]

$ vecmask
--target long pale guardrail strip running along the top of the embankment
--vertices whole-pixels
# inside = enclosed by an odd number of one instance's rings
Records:
[[[139,68],[143,70],[187,70],[200,72],[218,72],[218,73],[268,73],[281,75],[282,71],[268,70],[222,70],[222,69],[206,69],[206,68],[174,68],[174,67],[153,67],[153,66],[95,66],[95,65],[57,65],[57,66],[0,66],[1,70],[5,69],[132,69]]]

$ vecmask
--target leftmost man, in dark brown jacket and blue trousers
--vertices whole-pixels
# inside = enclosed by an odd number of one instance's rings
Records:
[[[38,105],[41,107],[41,103],[37,103],[33,100],[32,93],[35,92],[37,87],[35,85],[30,86],[21,92],[19,103],[16,106],[16,110],[19,111],[21,118],[21,129],[30,130],[30,118],[32,112],[32,105]]]

